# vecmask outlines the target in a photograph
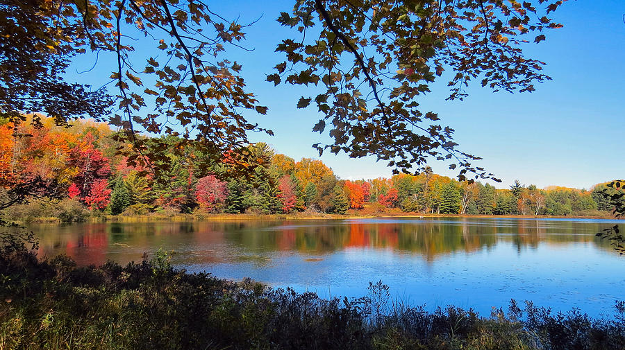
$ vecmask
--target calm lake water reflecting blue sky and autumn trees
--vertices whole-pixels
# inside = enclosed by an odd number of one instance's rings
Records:
[[[140,261],[159,247],[174,265],[251,277],[322,297],[361,297],[382,280],[393,298],[488,315],[510,299],[611,315],[625,300],[625,256],[594,236],[614,221],[376,218],[33,225],[40,255],[80,265]]]

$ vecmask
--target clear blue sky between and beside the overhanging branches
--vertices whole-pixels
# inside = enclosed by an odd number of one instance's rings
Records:
[[[266,82],[272,67],[284,58],[274,53],[285,37],[299,37],[275,21],[288,12],[292,1],[214,1],[214,12],[240,23],[258,19],[247,28],[246,52],[228,49],[228,56],[243,64],[249,91],[269,107],[267,116],[249,114],[252,121],[275,132],[275,137],[251,135],[277,152],[294,159],[322,159],[343,179],[390,177],[391,169],[374,157],[351,159],[346,155],[318,157],[310,146],[322,137],[311,130],[320,116],[315,107],[298,110],[300,96],[315,91]],[[547,32],[547,41],[528,44],[529,57],[547,62],[553,81],[537,85],[528,94],[492,93],[476,82],[464,101],[446,101],[444,84],[437,84],[421,103],[437,112],[441,123],[456,130],[456,142],[466,152],[483,157],[476,165],[494,173],[507,187],[515,179],[523,184],[590,188],[593,184],[625,177],[623,157],[625,126],[625,1],[567,1],[551,17],[565,25]],[[76,75],[97,85],[97,75],[110,71],[101,58],[97,71]],[[92,62],[77,60],[78,71]],[[74,73],[76,71],[74,70]],[[72,73],[72,75],[74,75]],[[108,73],[106,73],[108,76]],[[102,80],[106,82],[106,80]],[[112,89],[114,89],[112,87]],[[111,90],[113,91],[113,90]],[[456,172],[436,161],[435,173],[454,177]]]

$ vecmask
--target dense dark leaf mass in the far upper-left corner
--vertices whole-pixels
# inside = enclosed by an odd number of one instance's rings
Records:
[[[72,118],[101,119],[107,114],[113,100],[104,90],[90,91],[89,85],[63,77],[81,36],[81,26],[67,19],[69,7],[62,1],[0,1],[3,119],[15,122],[24,120],[25,112],[42,112],[65,125]]]

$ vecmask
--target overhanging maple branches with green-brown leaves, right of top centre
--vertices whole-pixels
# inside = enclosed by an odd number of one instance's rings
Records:
[[[450,168],[460,168],[460,181],[469,173],[492,177],[472,166],[479,158],[458,150],[453,129],[432,123],[437,114],[422,111],[418,98],[445,69],[452,71],[449,99],[466,96],[465,87],[475,79],[494,91],[533,91],[535,82],[549,77],[541,73],[544,62],[524,57],[522,44],[530,38],[541,42],[546,30],[561,27],[547,17],[561,4],[297,1],[292,14],[283,12],[278,21],[297,27],[303,37],[278,45],[286,61],[267,80],[326,89],[314,98],[324,118],[313,131],[329,125],[333,142],[315,144],[319,154],[376,155],[396,173],[423,171],[428,159],[455,159]],[[302,97],[297,107],[312,101]]]

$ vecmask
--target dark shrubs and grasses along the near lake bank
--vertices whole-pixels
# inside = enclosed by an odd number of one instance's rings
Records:
[[[0,256],[0,349],[625,347],[622,302],[612,320],[514,301],[490,317],[453,306],[431,313],[392,301],[381,282],[359,299],[326,300],[188,274],[163,252],[126,267],[77,268],[65,256],[40,261],[8,242]]]

